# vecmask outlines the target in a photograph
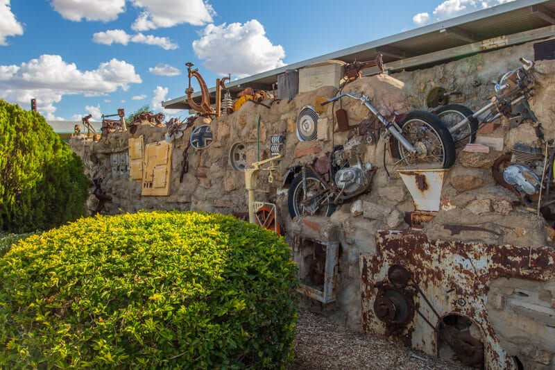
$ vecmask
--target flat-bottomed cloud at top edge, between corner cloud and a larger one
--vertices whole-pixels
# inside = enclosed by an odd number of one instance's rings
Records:
[[[63,18],[80,22],[109,22],[125,11],[126,0],[52,0],[52,6]]]

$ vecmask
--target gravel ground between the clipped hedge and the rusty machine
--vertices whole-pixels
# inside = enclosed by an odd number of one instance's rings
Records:
[[[459,364],[411,351],[376,335],[357,333],[322,314],[300,310],[295,360],[287,370],[456,369]]]

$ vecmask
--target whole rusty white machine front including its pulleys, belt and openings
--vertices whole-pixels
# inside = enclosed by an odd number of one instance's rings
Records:
[[[549,246],[379,231],[376,252],[361,255],[362,326],[472,367],[552,369],[554,263]]]

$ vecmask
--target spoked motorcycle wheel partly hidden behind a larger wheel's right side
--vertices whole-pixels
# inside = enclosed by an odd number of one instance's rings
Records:
[[[450,131],[460,121],[473,114],[474,112],[470,108],[461,104],[447,104],[436,110],[436,115]],[[475,117],[470,117],[468,124],[451,133],[451,135],[455,144],[467,144],[475,142],[476,131],[478,131],[478,120]]]

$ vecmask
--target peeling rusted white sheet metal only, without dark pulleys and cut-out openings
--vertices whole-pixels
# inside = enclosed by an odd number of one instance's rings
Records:
[[[376,253],[361,256],[362,324],[366,333],[392,334],[404,344],[436,355],[441,318],[456,314],[479,329],[486,369],[516,368],[488,320],[488,285],[497,278],[554,278],[554,249],[429,240],[411,230],[379,231],[376,238]],[[395,280],[388,276],[388,269],[395,265],[411,275],[408,286],[418,290],[413,297],[418,314],[402,330],[388,333],[384,312],[376,313],[374,305],[384,299],[379,296],[380,287]],[[394,302],[398,301],[396,298]]]

